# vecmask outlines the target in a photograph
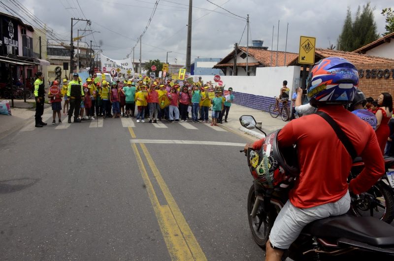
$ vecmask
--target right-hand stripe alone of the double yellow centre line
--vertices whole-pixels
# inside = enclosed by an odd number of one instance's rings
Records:
[[[159,169],[157,168],[155,162],[153,161],[150,153],[148,152],[148,149],[146,148],[145,144],[140,143],[141,149],[146,157],[146,160],[148,161],[148,164],[150,168],[152,169],[152,172],[159,183],[159,186],[164,194],[165,199],[167,200],[169,210],[172,212],[174,219],[182,231],[182,235],[190,249],[190,252],[192,253],[193,257],[196,260],[206,260],[206,257],[204,255],[204,252],[202,252],[201,247],[199,246],[196,237],[194,236],[192,230],[190,229],[188,223],[185,220],[185,217],[183,216],[181,210],[178,207],[178,204],[175,202],[175,199],[169,192],[169,189],[167,185],[164,182],[164,179],[162,175],[160,174]]]

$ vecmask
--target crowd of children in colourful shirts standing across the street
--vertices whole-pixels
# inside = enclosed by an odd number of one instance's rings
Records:
[[[90,77],[84,83],[79,80],[84,93],[80,104],[81,121],[94,120],[95,117],[136,117],[136,122],[139,123],[145,122],[145,118],[149,117],[150,123],[164,120],[185,122],[190,119],[189,114],[191,114],[193,122],[211,123],[212,126],[217,126],[217,123],[222,123],[223,117],[227,122],[234,99],[232,88],[224,91],[223,87],[214,87],[211,82],[204,84],[201,78],[197,83],[181,82],[182,86],[176,81],[165,81],[161,78],[148,82],[129,79],[123,81],[123,84],[119,84],[120,81],[108,83],[106,80]],[[59,83],[55,81],[54,85],[57,86]],[[56,124],[56,114],[61,124],[62,97],[65,100],[63,114],[68,114],[68,88],[67,80],[64,79],[61,93],[56,95],[56,100],[51,100],[54,111],[52,124]],[[50,92],[49,97],[53,97]],[[212,122],[208,119],[210,108],[212,108]]]

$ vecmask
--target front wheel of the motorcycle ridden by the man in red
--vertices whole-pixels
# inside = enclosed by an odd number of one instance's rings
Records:
[[[258,244],[259,247],[265,250],[265,244],[267,243],[269,232],[271,231],[272,225],[274,223],[274,218],[272,218],[270,214],[267,215],[264,214],[263,202],[260,203],[256,217],[252,218],[250,214],[252,213],[255,201],[256,201],[255,186],[252,185],[252,187],[249,190],[248,206],[247,206],[249,228],[250,231],[252,232],[253,240],[255,240],[256,244]],[[263,223],[259,228],[259,223],[261,219],[263,219],[262,221]]]

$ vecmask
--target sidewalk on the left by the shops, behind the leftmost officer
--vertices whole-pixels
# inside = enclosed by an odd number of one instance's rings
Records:
[[[0,99],[0,101],[3,99]],[[34,99],[14,100],[14,108],[11,107],[11,116],[0,114],[0,139],[6,135],[22,128],[27,122],[34,124]],[[11,100],[8,100],[11,106]],[[44,110],[50,107],[49,104],[44,104]]]

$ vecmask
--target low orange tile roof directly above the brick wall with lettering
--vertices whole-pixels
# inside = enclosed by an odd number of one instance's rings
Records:
[[[353,64],[378,64],[378,63],[393,63],[393,59],[382,58],[382,57],[375,57],[369,56],[365,54],[353,53],[353,52],[344,52],[338,50],[330,50],[330,49],[323,49],[323,48],[316,48],[315,49],[315,62],[319,61],[320,59],[327,58],[330,56],[337,56],[342,57],[348,60]],[[290,65],[298,65],[298,55],[296,59],[290,62]]]

